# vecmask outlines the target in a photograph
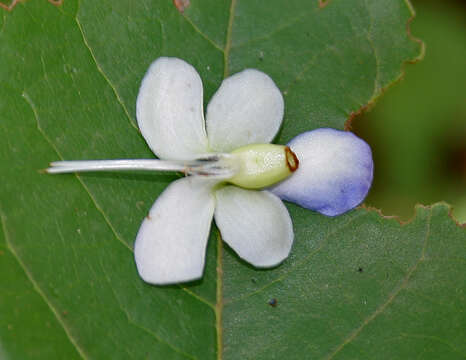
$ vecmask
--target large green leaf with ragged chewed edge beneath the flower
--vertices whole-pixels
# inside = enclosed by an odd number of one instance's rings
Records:
[[[268,73],[285,95],[278,142],[343,128],[419,56],[409,4],[53,3],[0,10],[2,359],[464,357],[465,232],[446,205],[404,226],[290,205],[296,240],[278,268],[241,262],[214,229],[203,279],[156,287],[138,277],[132,245],[175,176],[38,172],[152,157],[135,99],[162,55],[197,68],[205,103],[228,74]]]

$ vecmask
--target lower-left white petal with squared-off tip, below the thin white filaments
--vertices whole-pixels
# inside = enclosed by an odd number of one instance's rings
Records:
[[[214,214],[214,183],[186,177],[171,183],[142,222],[134,244],[139,275],[151,284],[199,279]]]

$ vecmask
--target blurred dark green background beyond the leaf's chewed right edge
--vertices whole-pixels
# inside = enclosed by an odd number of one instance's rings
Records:
[[[466,222],[466,7],[413,3],[412,31],[427,45],[425,58],[352,123],[377,163],[366,203],[407,220],[414,204],[446,200]]]

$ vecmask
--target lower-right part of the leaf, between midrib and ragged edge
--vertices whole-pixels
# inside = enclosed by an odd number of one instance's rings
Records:
[[[297,241],[282,267],[245,269],[227,253],[225,358],[464,357],[466,235],[448,206],[418,207],[406,225],[290,210]]]

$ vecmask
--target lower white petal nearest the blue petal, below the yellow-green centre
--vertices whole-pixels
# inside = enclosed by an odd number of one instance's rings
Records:
[[[275,266],[288,257],[293,224],[282,201],[268,191],[226,186],[216,191],[215,222],[223,240],[257,267]]]

